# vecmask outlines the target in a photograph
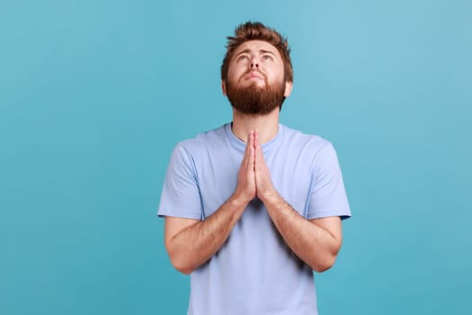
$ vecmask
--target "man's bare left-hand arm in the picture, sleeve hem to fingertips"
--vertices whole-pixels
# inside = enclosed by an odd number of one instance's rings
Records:
[[[175,269],[190,274],[225,243],[247,203],[254,199],[254,134],[247,139],[236,191],[206,220],[165,218],[165,248]]]

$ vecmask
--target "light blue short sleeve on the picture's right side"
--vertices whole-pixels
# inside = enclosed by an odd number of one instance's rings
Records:
[[[316,155],[308,202],[307,219],[351,216],[338,157],[331,143]]]

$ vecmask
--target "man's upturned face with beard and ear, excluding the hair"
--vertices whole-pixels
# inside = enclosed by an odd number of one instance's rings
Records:
[[[223,93],[238,112],[272,112],[290,92],[291,83],[284,82],[281,54],[272,44],[249,40],[236,48],[229,61]]]

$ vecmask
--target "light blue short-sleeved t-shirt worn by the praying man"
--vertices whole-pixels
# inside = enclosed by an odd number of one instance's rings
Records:
[[[244,151],[229,123],[180,142],[157,214],[205,220],[235,192]],[[351,216],[330,142],[280,124],[263,155],[272,184],[300,215]],[[191,273],[188,314],[317,314],[312,269],[281,238],[260,200],[249,203],[225,244]]]

